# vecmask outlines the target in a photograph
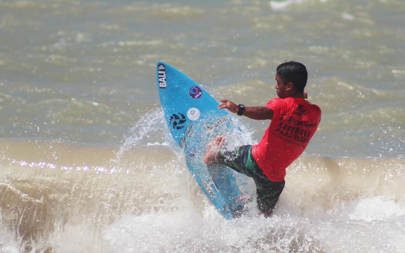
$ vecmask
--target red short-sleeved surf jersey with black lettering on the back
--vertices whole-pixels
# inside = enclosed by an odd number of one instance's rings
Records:
[[[264,175],[283,181],[286,168],[304,152],[320,122],[320,108],[302,98],[274,98],[267,108],[273,118],[262,140],[252,147]]]

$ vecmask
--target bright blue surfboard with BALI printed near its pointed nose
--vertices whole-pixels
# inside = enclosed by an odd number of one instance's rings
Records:
[[[235,173],[226,166],[207,166],[204,156],[214,137],[240,134],[240,129],[206,90],[176,68],[158,62],[156,74],[166,123],[185,153],[191,174],[225,218],[239,216],[246,195]]]

